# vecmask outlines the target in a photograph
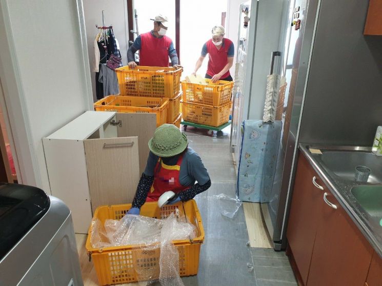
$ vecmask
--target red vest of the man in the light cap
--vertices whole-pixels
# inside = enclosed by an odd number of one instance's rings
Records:
[[[167,37],[155,37],[151,32],[140,34],[142,41],[139,50],[139,65],[149,67],[168,67],[169,48],[172,40]]]

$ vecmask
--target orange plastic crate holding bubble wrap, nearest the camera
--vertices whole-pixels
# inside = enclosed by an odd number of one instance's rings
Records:
[[[100,206],[95,210],[93,219],[99,219],[104,224],[106,219],[120,219],[131,208],[131,204]],[[180,276],[196,275],[199,266],[200,245],[204,241],[202,217],[194,200],[179,202],[172,206],[158,208],[157,202],[147,202],[140,209],[140,215],[164,218],[178,208],[180,215],[186,214],[187,220],[196,226],[196,237],[192,240],[174,240],[173,243],[179,252]],[[160,249],[146,251],[137,245],[108,247],[104,249],[93,248],[91,245],[92,229],[89,228],[86,240],[86,249],[91,254],[100,285],[130,283],[147,280],[137,268],[150,268],[147,272],[159,275]],[[143,269],[144,270],[144,269]],[[157,278],[157,277],[151,277]]]

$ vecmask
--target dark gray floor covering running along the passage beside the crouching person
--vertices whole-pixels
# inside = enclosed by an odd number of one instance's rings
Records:
[[[235,197],[236,175],[229,150],[229,132],[214,133],[188,127],[190,147],[202,158],[211,188],[195,197],[206,233],[200,250],[199,271],[184,277],[186,286],[289,286],[297,285],[284,252],[251,249],[243,207],[233,219],[220,214],[219,200],[214,195]],[[253,265],[253,270],[247,263]]]

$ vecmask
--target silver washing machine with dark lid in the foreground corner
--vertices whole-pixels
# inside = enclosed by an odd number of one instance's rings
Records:
[[[83,285],[70,210],[43,190],[0,183],[0,285]]]

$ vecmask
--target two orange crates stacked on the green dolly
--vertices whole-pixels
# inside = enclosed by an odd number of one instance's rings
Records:
[[[219,127],[229,121],[232,107],[231,93],[233,81],[218,80],[205,84],[182,81],[183,120],[201,127]]]

